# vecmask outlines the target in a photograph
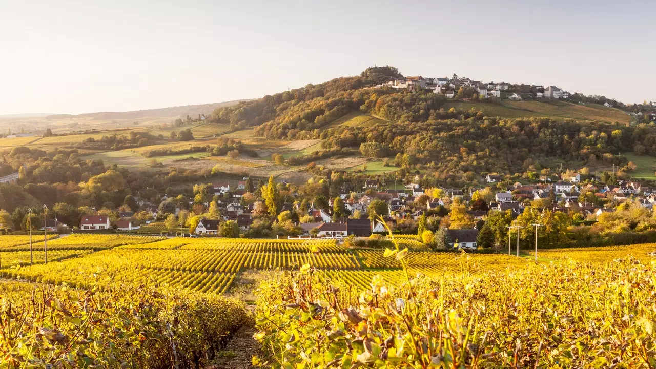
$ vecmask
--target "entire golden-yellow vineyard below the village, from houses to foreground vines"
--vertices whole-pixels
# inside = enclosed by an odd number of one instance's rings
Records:
[[[384,251],[326,239],[73,234],[48,241],[47,265],[43,240],[33,240],[30,265],[22,237],[0,236],[0,276],[36,282],[0,285],[10,301],[0,305],[7,337],[24,337],[0,339],[5,360],[14,360],[10,368],[25,360],[85,366],[73,364],[70,347],[106,366],[198,366],[246,319],[242,305],[219,295],[249,286],[240,278],[260,273],[266,278],[251,299],[255,337],[267,350],[255,360],[265,367],[603,367],[612,360],[640,367],[656,349],[656,316],[648,309],[656,303],[649,279],[655,270],[647,266],[656,244],[540,250],[536,264],[531,257],[430,251],[414,236],[398,238],[409,251]],[[103,323],[79,323],[94,317]],[[43,322],[57,328],[35,328]],[[37,336],[24,334],[35,329]],[[89,341],[70,341],[62,351],[60,333]],[[613,334],[621,338],[600,339]],[[177,358],[171,346],[157,346],[171,341]],[[34,354],[16,345],[32,345]]]

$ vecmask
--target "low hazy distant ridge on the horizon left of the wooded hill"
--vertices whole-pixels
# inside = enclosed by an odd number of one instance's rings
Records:
[[[211,104],[172,106],[170,108],[134,110],[131,112],[96,112],[85,114],[52,114],[45,116],[46,120],[92,118],[92,119],[142,119],[142,118],[169,118],[197,116],[198,114],[211,114],[216,108],[236,105],[247,100],[232,100],[224,102],[213,102]]]

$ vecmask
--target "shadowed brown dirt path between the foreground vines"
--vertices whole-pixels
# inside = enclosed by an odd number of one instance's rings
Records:
[[[226,349],[221,351],[210,366],[212,369],[251,369],[256,368],[251,364],[253,356],[261,356],[262,347],[255,341],[253,327],[243,326],[232,337]]]

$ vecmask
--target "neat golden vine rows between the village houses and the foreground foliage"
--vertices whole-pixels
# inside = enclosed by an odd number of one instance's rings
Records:
[[[245,238],[163,238],[119,234],[72,234],[48,241],[45,265],[43,240],[33,242],[33,263],[25,236],[0,236],[0,274],[5,278],[66,282],[89,288],[97,283],[167,285],[203,293],[226,292],[243,271],[268,269],[298,270],[310,265],[324,280],[344,282],[348,290],[367,289],[379,274],[395,284],[403,276],[401,263],[385,257],[383,250],[350,249],[335,240],[272,240]],[[412,276],[482,274],[489,271],[525,269],[530,261],[499,254],[461,254],[426,251],[415,236],[397,236]],[[34,241],[34,240],[33,240]],[[29,240],[28,240],[29,243]],[[632,253],[651,259],[654,244],[596,249],[541,250],[541,259],[562,263],[603,261]]]

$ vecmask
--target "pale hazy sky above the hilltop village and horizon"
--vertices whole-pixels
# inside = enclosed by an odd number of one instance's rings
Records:
[[[256,98],[405,76],[656,100],[656,1],[0,0],[0,114]]]

